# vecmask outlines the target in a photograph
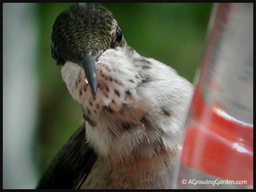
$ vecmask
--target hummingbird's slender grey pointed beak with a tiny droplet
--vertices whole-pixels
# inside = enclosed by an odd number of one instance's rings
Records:
[[[98,56],[102,54],[102,50],[95,52],[91,51],[89,53],[86,53],[83,55],[83,59],[81,62],[82,68],[84,68],[84,72],[86,74],[86,78],[90,84],[91,90],[94,94],[97,93],[98,88],[98,77],[97,77],[97,71],[95,68],[95,62]]]

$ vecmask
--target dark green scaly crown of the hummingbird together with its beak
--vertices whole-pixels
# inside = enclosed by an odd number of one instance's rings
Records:
[[[93,94],[98,87],[97,59],[104,51],[125,43],[112,13],[91,3],[77,3],[62,12],[54,22],[51,38],[57,65],[73,62],[83,68]]]

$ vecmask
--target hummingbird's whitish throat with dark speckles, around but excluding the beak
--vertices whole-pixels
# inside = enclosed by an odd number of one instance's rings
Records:
[[[111,118],[115,123],[118,120],[124,123],[133,121],[134,124],[141,118],[142,108],[143,111],[147,110],[143,105],[143,99],[136,91],[143,80],[140,74],[141,67],[131,67],[132,60],[127,55],[132,57],[136,54],[138,58],[142,57],[131,50],[128,54],[125,50],[124,47],[108,49],[98,58],[95,64],[98,74],[96,95],[85,82],[86,75],[79,65],[66,62],[61,67],[62,79],[72,97],[81,104],[84,119],[93,127],[102,116]]]

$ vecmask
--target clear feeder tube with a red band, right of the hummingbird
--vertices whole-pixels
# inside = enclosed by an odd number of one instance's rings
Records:
[[[253,3],[215,4],[174,188],[253,188]]]

